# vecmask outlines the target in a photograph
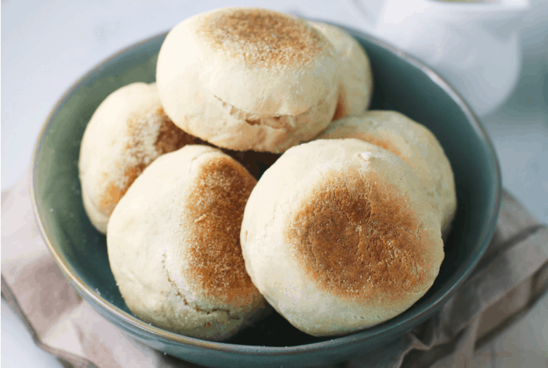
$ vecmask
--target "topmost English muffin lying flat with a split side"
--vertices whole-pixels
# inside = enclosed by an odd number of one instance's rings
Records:
[[[221,8],[171,29],[156,79],[167,115],[184,131],[230,150],[280,153],[332,120],[338,63],[305,20]]]

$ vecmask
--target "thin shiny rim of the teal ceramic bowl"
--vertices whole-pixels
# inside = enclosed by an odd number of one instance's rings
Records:
[[[308,18],[307,18],[308,19]],[[441,308],[441,305],[443,305],[448,299],[455,294],[455,291],[463,284],[464,280],[470,275],[471,270],[477,265],[478,261],[480,260],[481,256],[485,253],[485,249],[487,249],[488,244],[490,242],[490,239],[492,237],[493,232],[495,231],[495,225],[497,222],[497,218],[500,213],[500,205],[502,201],[502,178],[500,174],[500,164],[497,159],[497,155],[495,152],[495,149],[490,141],[490,138],[488,137],[488,134],[486,133],[483,125],[481,124],[481,121],[476,117],[474,112],[472,112],[471,108],[467,103],[465,102],[464,98],[455,91],[448,82],[446,82],[441,76],[439,76],[436,72],[431,70],[430,67],[427,67],[423,63],[421,63],[419,60],[412,57],[410,54],[408,54],[405,51],[402,51],[395,46],[392,46],[391,44],[387,44],[384,41],[381,41],[380,39],[377,39],[376,37],[371,36],[370,34],[367,34],[364,31],[354,29],[353,27],[348,27],[346,25],[339,25],[337,22],[332,22],[329,20],[316,20],[316,19],[308,19],[313,20],[316,22],[324,22],[330,25],[335,25],[337,27],[340,27],[344,31],[351,34],[351,36],[355,37],[356,35],[360,38],[367,39],[367,41],[372,42],[373,44],[377,44],[377,46],[381,46],[382,48],[386,49],[390,53],[392,53],[394,56],[400,59],[404,59],[407,63],[412,64],[417,69],[422,70],[424,74],[426,74],[434,84],[436,84],[438,87],[442,88],[445,93],[447,93],[450,98],[452,98],[457,105],[459,105],[460,109],[464,114],[466,115],[467,119],[471,122],[471,124],[474,126],[476,131],[479,133],[481,138],[483,138],[483,142],[488,148],[488,151],[490,152],[490,157],[492,157],[492,160],[495,164],[495,171],[496,171],[496,186],[495,188],[495,204],[494,208],[492,209],[492,217],[489,219],[488,223],[485,224],[483,233],[481,234],[480,239],[478,239],[478,243],[480,243],[479,251],[477,254],[471,257],[471,260],[469,263],[464,263],[459,268],[457,268],[457,272],[455,272],[455,275],[452,275],[450,277],[449,282],[447,284],[450,284],[450,287],[442,287],[440,291],[438,291],[438,294],[440,294],[436,301],[434,301],[431,305],[428,305],[424,310],[421,310],[420,313],[416,313],[415,315],[412,315],[410,317],[407,317],[405,320],[400,320],[401,315],[398,315],[391,320],[387,320],[386,322],[383,322],[381,324],[378,324],[377,326],[370,327],[369,329],[365,329],[363,331],[355,332],[354,334],[349,334],[346,336],[334,336],[333,339],[327,340],[327,341],[321,341],[318,343],[308,343],[306,345],[299,345],[299,346],[287,346],[287,347],[275,347],[275,346],[247,346],[247,345],[238,345],[233,343],[223,343],[223,342],[214,342],[214,341],[205,341],[201,339],[195,339],[189,336],[183,336],[180,334],[176,334],[171,331],[166,331],[164,329],[160,329],[159,327],[154,327],[149,325],[148,323],[145,323],[141,320],[139,320],[136,317],[133,317],[133,315],[129,315],[124,310],[118,308],[116,305],[113,305],[109,301],[106,301],[104,298],[98,294],[98,292],[92,290],[89,288],[77,275],[75,275],[71,271],[71,267],[63,262],[63,258],[60,255],[60,252],[57,251],[55,247],[53,247],[53,242],[51,241],[50,237],[48,236],[48,233],[46,232],[46,229],[44,228],[44,223],[42,222],[42,218],[40,216],[38,206],[37,206],[37,199],[36,199],[36,188],[34,186],[36,176],[35,173],[37,171],[37,158],[39,155],[39,152],[41,151],[42,143],[44,142],[44,138],[46,136],[46,132],[48,131],[49,126],[53,122],[53,118],[56,116],[60,108],[67,103],[67,100],[71,98],[74,93],[81,88],[81,86],[84,84],[84,82],[89,79],[93,74],[96,74],[100,70],[103,69],[103,67],[110,62],[112,58],[116,58],[119,55],[123,55],[124,53],[128,53],[133,48],[136,48],[137,46],[140,46],[141,44],[148,44],[152,41],[155,41],[157,39],[160,39],[162,37],[165,37],[167,35],[167,32],[161,32],[159,34],[155,34],[154,36],[148,37],[146,39],[143,39],[141,41],[138,41],[136,43],[131,44],[130,46],[126,46],[125,48],[122,48],[120,51],[117,51],[116,53],[111,54],[104,60],[102,60],[100,63],[98,63],[95,67],[93,67],[89,72],[86,72],[84,75],[82,75],[77,81],[75,81],[70,88],[63,93],[63,96],[61,96],[56,105],[51,109],[50,114],[48,114],[48,117],[46,118],[46,121],[44,122],[41,131],[39,133],[39,136],[37,138],[37,142],[34,145],[34,152],[32,155],[32,162],[31,162],[31,175],[30,175],[30,197],[32,200],[32,210],[34,212],[34,217],[37,220],[38,228],[41,232],[41,236],[44,239],[44,242],[46,243],[49,251],[53,255],[53,258],[55,259],[56,263],[58,264],[60,270],[63,272],[63,275],[67,277],[67,280],[69,280],[70,284],[77,289],[79,294],[84,296],[84,299],[86,301],[93,301],[94,304],[96,304],[98,308],[98,313],[105,317],[105,319],[109,320],[111,323],[114,324],[121,324],[122,322],[125,322],[127,324],[130,324],[133,329],[138,329],[142,333],[145,334],[152,334],[154,336],[160,337],[162,339],[168,340],[170,343],[176,343],[176,344],[183,344],[185,346],[193,347],[193,348],[206,348],[210,350],[218,350],[225,353],[243,353],[246,355],[260,355],[260,356],[266,356],[266,355],[296,355],[301,353],[315,353],[319,350],[324,350],[325,348],[343,348],[346,346],[353,346],[358,343],[363,343],[364,341],[375,339],[377,336],[381,334],[386,333],[386,338],[393,338],[406,330],[403,329],[403,324],[413,324],[413,322],[420,323],[422,320],[429,317],[433,312],[435,312],[438,308]],[[456,280],[455,280],[456,279]],[[119,318],[122,322],[115,321],[108,313],[103,313],[103,310],[105,312],[110,312],[116,317]],[[122,328],[119,326],[119,328]],[[124,328],[125,329],[125,328]]]

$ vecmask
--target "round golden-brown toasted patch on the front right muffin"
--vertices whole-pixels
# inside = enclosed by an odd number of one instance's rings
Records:
[[[429,233],[395,185],[377,173],[332,173],[311,190],[285,237],[318,287],[353,300],[398,299],[424,282]]]

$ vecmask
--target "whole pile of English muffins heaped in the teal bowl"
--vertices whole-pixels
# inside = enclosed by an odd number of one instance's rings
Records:
[[[156,82],[110,94],[80,148],[84,207],[133,315],[226,341],[275,310],[340,336],[419,300],[455,180],[426,127],[367,111],[373,77],[351,36],[292,15],[174,27]]]

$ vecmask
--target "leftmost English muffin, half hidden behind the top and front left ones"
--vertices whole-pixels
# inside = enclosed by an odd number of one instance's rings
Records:
[[[143,169],[194,142],[164,113],[156,84],[112,92],[93,113],[80,147],[81,195],[93,226],[105,234],[112,210]]]

